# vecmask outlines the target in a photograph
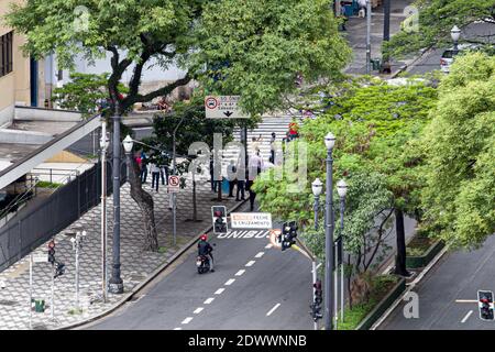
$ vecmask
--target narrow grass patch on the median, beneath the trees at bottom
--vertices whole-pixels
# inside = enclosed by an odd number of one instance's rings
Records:
[[[344,320],[339,320],[337,330],[355,330],[363,319],[385,298],[391,289],[398,283],[394,275],[381,275],[373,277],[370,300],[354,305],[352,309],[345,307]]]

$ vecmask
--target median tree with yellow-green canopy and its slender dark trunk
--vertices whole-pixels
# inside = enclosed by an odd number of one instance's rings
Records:
[[[342,89],[337,91],[330,87],[328,96],[333,97],[330,98],[331,108],[302,125],[301,141],[308,143],[308,180],[326,178],[323,139],[332,131],[337,136],[334,177],[342,177],[344,173],[374,172],[383,177],[387,191],[393,195],[391,210],[396,216],[398,249],[396,273],[407,275],[405,232],[400,224],[404,213],[416,216],[420,212],[419,170],[424,163],[420,151],[413,146],[417,145],[429,121],[437,92],[417,81],[400,87],[375,80],[363,86],[364,82],[362,79],[344,82]],[[296,219],[301,224],[309,224],[312,218],[309,183],[300,193],[289,193],[289,180],[288,177],[278,180],[267,175],[255,183],[262,209],[283,219]]]

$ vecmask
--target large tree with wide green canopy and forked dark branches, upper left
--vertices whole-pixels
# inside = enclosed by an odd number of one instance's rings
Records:
[[[35,57],[56,53],[62,67],[73,67],[77,55],[88,61],[108,55],[112,72],[107,87],[117,114],[167,96],[191,79],[210,91],[241,95],[240,106],[255,114],[275,109],[283,95],[294,92],[297,74],[308,80],[332,77],[350,57],[324,0],[81,0],[77,4],[75,11],[74,1],[32,0],[12,6],[7,21],[25,34],[26,52]],[[151,64],[164,69],[177,65],[186,75],[141,94],[142,73]],[[119,99],[119,82],[128,69],[132,70],[129,94]],[[136,179],[130,178],[131,194],[147,217],[153,201]],[[146,222],[152,223],[146,231],[156,232],[154,221]]]

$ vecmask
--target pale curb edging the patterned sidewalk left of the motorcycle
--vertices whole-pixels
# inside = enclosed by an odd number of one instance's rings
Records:
[[[239,202],[232,209],[230,209],[228,211],[228,213],[231,213],[231,212],[238,210],[239,208],[241,208],[246,202],[248,202],[248,199]],[[202,231],[200,231],[199,234],[208,233],[212,229],[213,229],[212,226],[207,227]],[[183,248],[180,248],[168,260],[166,260],[165,263],[163,263],[156,270],[154,270],[145,279],[143,279],[143,282],[141,282],[134,288],[132,288],[132,290],[129,294],[127,294],[120,301],[118,301],[116,305],[113,305],[112,307],[110,307],[106,311],[103,311],[103,312],[101,312],[101,314],[99,314],[97,316],[90,317],[90,318],[88,318],[86,320],[81,320],[81,321],[74,322],[74,323],[70,323],[70,324],[66,324],[66,326],[63,326],[63,327],[59,327],[59,328],[55,328],[54,330],[70,330],[70,329],[74,329],[74,328],[81,327],[81,326],[85,326],[87,323],[94,322],[96,320],[99,320],[99,319],[101,319],[101,318],[112,314],[113,311],[116,311],[117,309],[119,309],[120,307],[125,305],[128,301],[130,301],[132,299],[132,297],[136,293],[139,293],[142,288],[144,288],[153,279],[155,279],[162,272],[164,272],[166,268],[168,268],[175,261],[177,261],[184,253],[186,253],[193,245],[195,245],[196,242],[198,242],[198,237],[197,235],[194,237],[189,242],[187,242]]]

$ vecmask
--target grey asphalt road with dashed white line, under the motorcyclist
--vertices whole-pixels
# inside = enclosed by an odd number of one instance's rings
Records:
[[[257,237],[210,239],[216,272],[204,275],[194,246],[136,301],[89,329],[312,330],[311,262]]]

